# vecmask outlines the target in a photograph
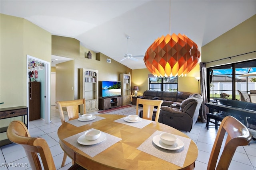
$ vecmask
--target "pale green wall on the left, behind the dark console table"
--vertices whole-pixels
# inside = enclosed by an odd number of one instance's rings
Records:
[[[0,23],[0,107],[28,106],[27,55],[50,63],[51,34],[23,18],[0,14]],[[16,119],[22,117],[0,120],[1,127]]]

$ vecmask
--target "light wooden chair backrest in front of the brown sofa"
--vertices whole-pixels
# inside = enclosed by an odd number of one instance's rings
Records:
[[[154,107],[157,106],[155,121],[158,122],[159,113],[163,100],[149,100],[137,98],[136,114],[139,115],[139,104],[143,105],[143,119],[152,120]]]

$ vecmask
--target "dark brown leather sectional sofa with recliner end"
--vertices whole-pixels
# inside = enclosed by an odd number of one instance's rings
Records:
[[[164,123],[175,129],[191,131],[198,120],[202,96],[190,92],[167,92],[146,90],[138,98],[150,100],[163,100],[158,122]],[[140,117],[143,112],[140,111]],[[155,115],[153,114],[154,120]]]

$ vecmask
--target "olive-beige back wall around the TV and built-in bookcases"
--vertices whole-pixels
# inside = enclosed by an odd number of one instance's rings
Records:
[[[92,59],[87,59],[88,51],[92,53]],[[113,59],[111,59],[111,63],[107,63],[106,59],[110,59],[109,57],[102,53],[96,54],[94,51],[83,47],[74,38],[52,35],[52,55],[74,59],[56,64],[56,101],[80,98],[79,68],[98,70],[98,81],[118,81],[121,73],[132,72],[130,68]]]

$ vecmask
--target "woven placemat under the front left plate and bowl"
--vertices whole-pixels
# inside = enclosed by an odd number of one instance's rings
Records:
[[[92,128],[93,129],[93,128]],[[88,129],[91,130],[91,129]],[[82,150],[84,153],[88,154],[91,157],[96,156],[97,154],[99,154],[100,152],[102,152],[103,150],[111,147],[112,145],[114,145],[115,143],[117,143],[118,141],[121,141],[122,139],[119,137],[115,137],[113,135],[110,135],[108,133],[106,134],[106,139],[104,141],[102,141],[101,143],[95,144],[95,145],[81,145],[77,142],[78,137],[80,137],[81,135],[84,135],[86,131],[83,131],[81,133],[78,133],[76,135],[67,137],[64,139],[64,141],[70,143],[71,145],[73,145],[74,147],[76,147],[79,150]],[[104,133],[104,132],[101,132]]]

